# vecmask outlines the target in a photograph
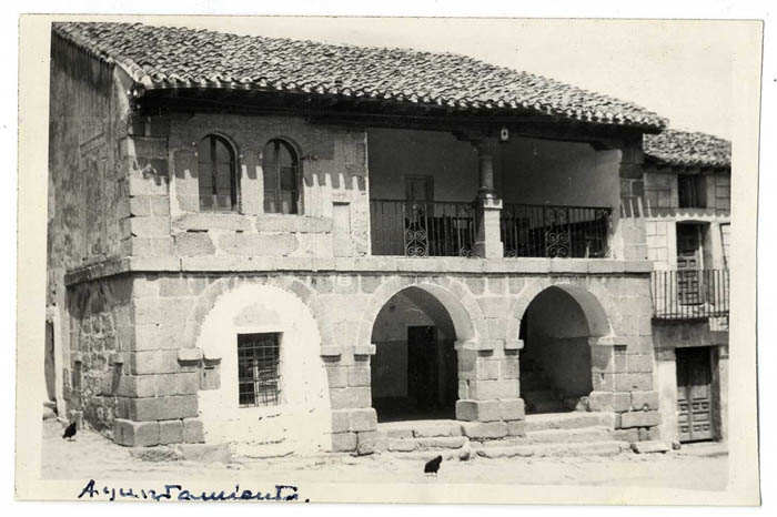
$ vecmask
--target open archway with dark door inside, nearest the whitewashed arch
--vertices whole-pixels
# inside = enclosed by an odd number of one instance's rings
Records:
[[[406,287],[383,305],[372,330],[379,422],[455,418],[456,337],[451,313],[428,290]]]

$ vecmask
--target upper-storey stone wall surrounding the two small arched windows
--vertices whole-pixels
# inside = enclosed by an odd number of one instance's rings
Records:
[[[199,211],[198,144],[212,133],[235,150],[239,206],[233,213]],[[263,214],[262,151],[275,138],[290,142],[300,158],[299,215]],[[301,118],[135,116],[130,153],[133,256],[249,261],[370,250],[363,131],[310,125]]]

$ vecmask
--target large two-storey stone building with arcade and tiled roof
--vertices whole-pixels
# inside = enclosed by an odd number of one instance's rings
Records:
[[[666,120],[453,54],[51,38],[61,414],[255,454],[659,437],[635,206]]]

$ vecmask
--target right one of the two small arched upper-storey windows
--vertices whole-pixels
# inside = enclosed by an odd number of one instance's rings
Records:
[[[291,145],[271,140],[264,146],[264,212],[300,213],[300,162]]]

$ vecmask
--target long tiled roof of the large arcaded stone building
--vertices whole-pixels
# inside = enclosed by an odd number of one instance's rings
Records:
[[[630,102],[452,53],[365,48],[108,22],[53,31],[113,60],[147,89],[259,89],[373,98],[470,111],[508,110],[658,130]]]

